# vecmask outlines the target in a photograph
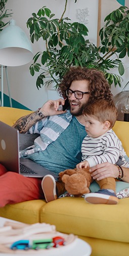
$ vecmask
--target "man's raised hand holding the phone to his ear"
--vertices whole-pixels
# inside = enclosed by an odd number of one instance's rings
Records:
[[[44,116],[54,116],[65,113],[65,111],[59,110],[60,105],[64,105],[64,99],[48,100],[41,108],[40,111]]]

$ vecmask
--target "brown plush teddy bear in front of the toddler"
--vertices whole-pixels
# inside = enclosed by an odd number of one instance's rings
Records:
[[[92,176],[89,168],[67,169],[59,173],[59,178],[64,182],[66,191],[74,197],[80,197],[90,192]]]

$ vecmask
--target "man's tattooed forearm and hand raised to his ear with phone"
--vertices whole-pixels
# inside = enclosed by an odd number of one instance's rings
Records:
[[[59,105],[64,105],[64,103],[65,101],[63,99],[49,100],[40,109],[27,116],[19,118],[13,127],[19,130],[20,133],[26,133],[37,121],[46,118],[47,116],[63,114],[64,111],[59,111],[58,108]]]

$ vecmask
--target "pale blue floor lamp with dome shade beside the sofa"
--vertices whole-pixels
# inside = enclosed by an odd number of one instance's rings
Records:
[[[4,78],[3,69],[6,70],[6,79],[12,106],[10,84],[8,79],[7,66],[21,66],[29,63],[33,58],[31,43],[25,32],[16,26],[15,20],[9,22],[9,26],[0,32],[0,65],[1,65],[1,100],[0,105],[4,106]]]

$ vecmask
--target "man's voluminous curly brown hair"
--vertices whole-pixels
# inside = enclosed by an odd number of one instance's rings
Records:
[[[109,84],[104,77],[102,71],[95,68],[71,67],[66,72],[64,78],[59,84],[59,93],[66,98],[66,89],[68,89],[73,81],[87,80],[89,85],[90,97],[89,103],[97,99],[106,99],[113,101],[113,95],[110,91]]]

